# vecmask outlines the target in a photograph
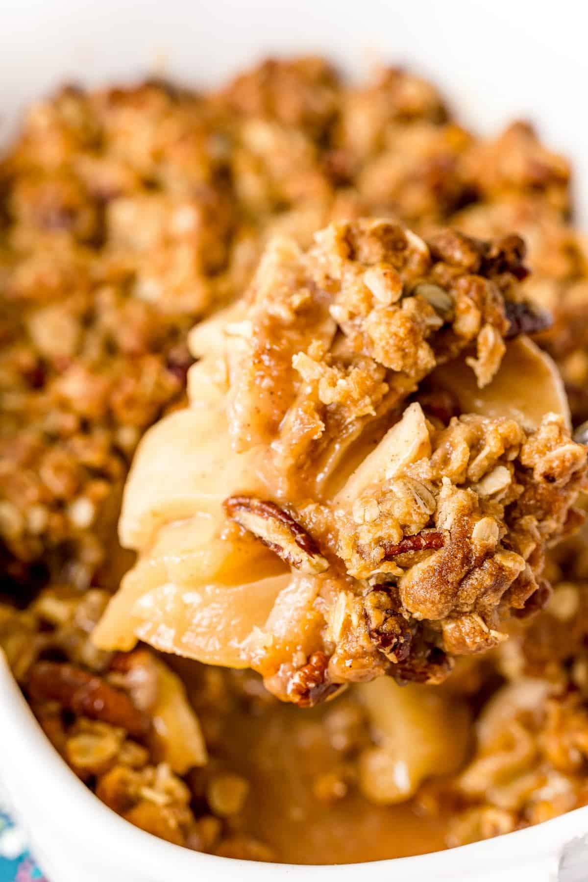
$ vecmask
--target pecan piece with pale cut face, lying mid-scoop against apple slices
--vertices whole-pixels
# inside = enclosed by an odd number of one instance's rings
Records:
[[[230,519],[249,530],[269,549],[297,570],[316,575],[329,568],[312,536],[274,502],[250,496],[228,497],[224,502]]]

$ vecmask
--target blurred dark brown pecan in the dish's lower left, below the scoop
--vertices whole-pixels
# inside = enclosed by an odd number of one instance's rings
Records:
[[[28,678],[33,701],[56,701],[64,710],[125,729],[142,737],[150,721],[128,695],[113,689],[101,676],[65,662],[36,662]]]

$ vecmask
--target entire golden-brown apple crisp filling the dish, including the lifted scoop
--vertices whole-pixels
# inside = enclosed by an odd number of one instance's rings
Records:
[[[569,162],[307,57],[65,86],[0,180],[0,647],[73,772],[291,863],[585,804]]]

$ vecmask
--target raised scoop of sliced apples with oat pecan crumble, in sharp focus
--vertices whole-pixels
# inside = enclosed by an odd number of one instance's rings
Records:
[[[250,667],[312,706],[381,675],[440,683],[505,639],[586,467],[547,356],[506,342],[545,326],[523,257],[516,236],[391,221],[272,241],[192,332],[190,406],[139,446],[120,522],[138,562],[97,645]]]

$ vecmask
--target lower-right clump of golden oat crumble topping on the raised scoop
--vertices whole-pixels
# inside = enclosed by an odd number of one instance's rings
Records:
[[[523,609],[537,592],[540,549],[552,530],[560,535],[567,529],[586,453],[580,445],[571,453],[567,430],[555,415],[525,433],[513,420],[473,415],[431,430],[418,411],[411,414],[406,411],[391,430],[396,437],[389,434],[381,442],[382,452],[376,448],[370,455],[373,465],[367,460],[358,469],[365,483],[354,475],[341,491],[337,551],[355,579],[379,580],[386,574],[393,583],[377,587],[363,601],[368,638],[394,662],[389,672],[430,682],[449,672],[445,654],[477,653],[501,643],[505,614]],[[413,425],[415,418],[422,431]],[[421,437],[412,457],[403,440],[404,422],[412,426],[407,437],[413,444]],[[569,495],[549,490],[559,479],[543,470],[550,472],[547,463],[555,461]],[[530,468],[537,483],[529,482]],[[339,621],[338,609],[333,620]],[[354,620],[353,610],[348,616]],[[385,623],[391,654],[383,645]],[[345,630],[341,635],[338,659],[347,640]],[[369,656],[365,641],[361,646]],[[429,659],[437,649],[443,653],[433,673]],[[349,644],[346,651],[356,654],[357,648]],[[338,666],[339,676],[344,670]]]

